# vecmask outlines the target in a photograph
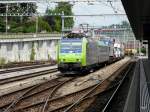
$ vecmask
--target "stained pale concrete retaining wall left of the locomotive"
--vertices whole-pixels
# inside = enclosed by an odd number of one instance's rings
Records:
[[[56,45],[59,39],[1,40],[0,64],[34,60],[56,60]],[[31,56],[32,55],[32,56]]]

